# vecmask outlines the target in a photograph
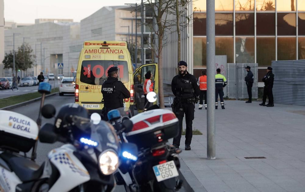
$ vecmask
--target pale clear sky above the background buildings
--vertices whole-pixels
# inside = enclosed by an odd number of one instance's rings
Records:
[[[5,21],[34,23],[35,19],[74,19],[80,22],[104,6],[141,3],[140,0],[4,0]]]

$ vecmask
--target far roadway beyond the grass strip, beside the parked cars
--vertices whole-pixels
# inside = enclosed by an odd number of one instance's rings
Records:
[[[49,83],[52,85],[52,88],[54,88],[54,83],[55,83],[55,87],[59,87],[58,80],[55,80],[55,82],[49,81]],[[29,87],[20,87],[19,86],[18,88],[19,88],[19,91],[17,91],[17,89],[14,89],[14,91],[12,91],[12,89],[1,90],[0,99],[15,96],[15,95],[34,93],[34,92],[38,91],[38,86],[29,86]]]

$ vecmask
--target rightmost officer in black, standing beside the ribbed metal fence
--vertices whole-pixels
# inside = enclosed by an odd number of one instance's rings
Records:
[[[274,74],[272,73],[272,67],[268,67],[267,74],[263,78],[263,82],[265,83],[265,86],[264,86],[263,102],[260,104],[260,106],[274,107],[273,93],[272,93],[273,81],[274,81]],[[267,95],[268,95],[269,103],[265,105]]]

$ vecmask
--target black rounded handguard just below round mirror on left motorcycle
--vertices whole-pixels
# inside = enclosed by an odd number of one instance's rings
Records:
[[[54,132],[54,125],[46,123],[39,131],[38,138],[42,143],[55,143],[57,141],[57,134]]]

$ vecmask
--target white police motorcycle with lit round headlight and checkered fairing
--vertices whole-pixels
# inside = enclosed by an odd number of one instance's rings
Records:
[[[37,124],[27,116],[0,110],[0,191],[113,190],[113,173],[119,166],[118,138],[113,126],[101,121],[98,114],[89,119],[86,109],[72,103],[60,109],[54,125],[47,123],[39,130],[41,115],[52,118],[55,112],[52,105],[45,105]],[[34,159],[38,137],[44,143],[65,143],[49,152],[41,166],[26,156],[33,148]]]

